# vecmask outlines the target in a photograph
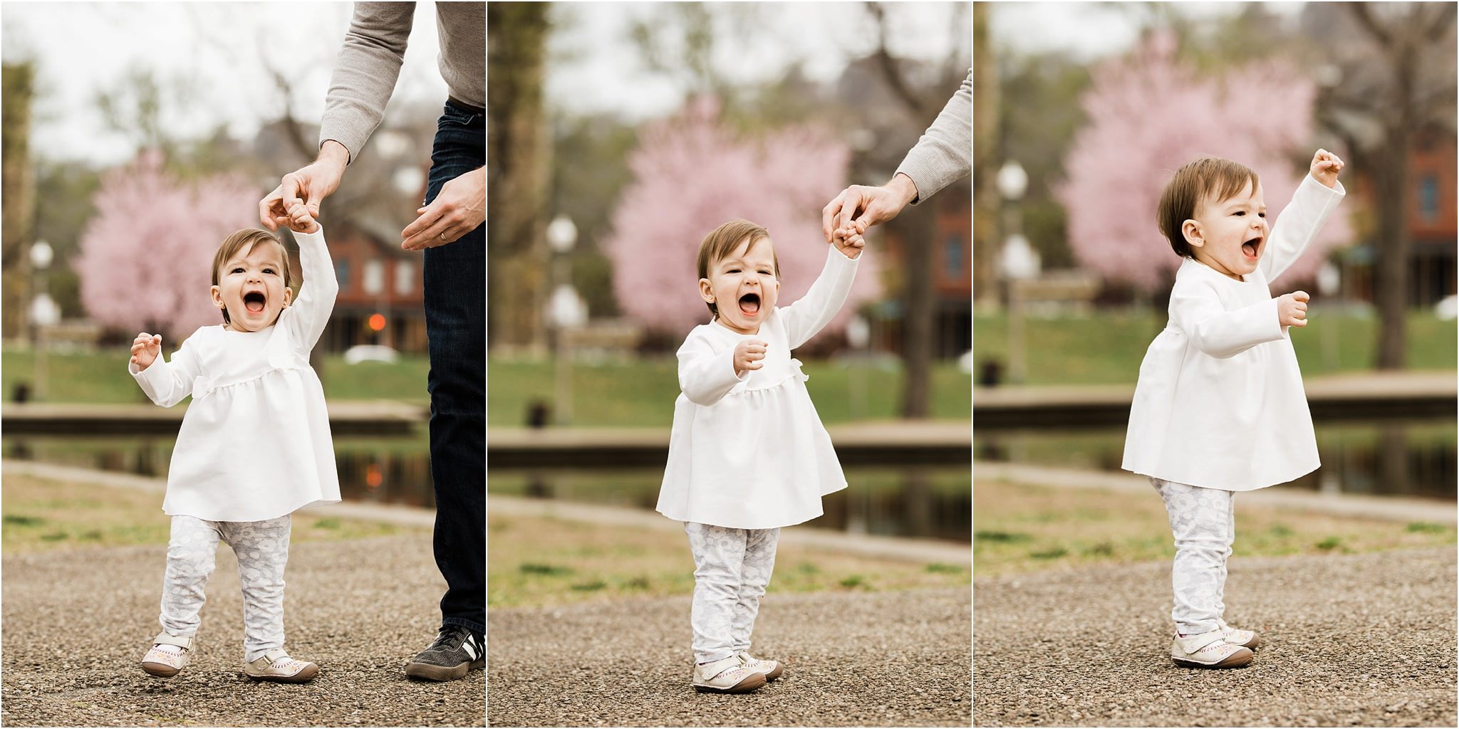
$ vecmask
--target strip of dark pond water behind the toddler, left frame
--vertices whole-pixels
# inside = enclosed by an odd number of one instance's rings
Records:
[[[172,437],[15,437],[3,439],[4,458],[165,478]],[[346,502],[435,506],[430,455],[425,439],[334,440],[340,497]]]

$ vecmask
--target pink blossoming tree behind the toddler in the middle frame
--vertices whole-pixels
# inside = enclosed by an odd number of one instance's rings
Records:
[[[633,182],[613,213],[604,251],[623,312],[649,330],[681,337],[709,321],[699,297],[699,242],[721,223],[743,217],[765,226],[781,264],[779,306],[810,289],[826,262],[820,210],[846,179],[851,152],[813,127],[740,139],[719,122],[718,104],[697,99],[676,118],[652,124],[629,156]],[[856,281],[824,331],[839,331],[867,300],[880,296],[872,230]]]

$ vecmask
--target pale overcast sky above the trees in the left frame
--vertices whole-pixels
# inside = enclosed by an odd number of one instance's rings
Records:
[[[134,146],[107,131],[95,96],[130,67],[193,87],[166,117],[179,134],[225,121],[248,139],[282,111],[263,58],[292,73],[295,115],[318,122],[349,19],[350,3],[0,3],[0,50],[38,66],[32,153],[111,165]],[[445,102],[438,52],[433,4],[419,3],[391,108]]]

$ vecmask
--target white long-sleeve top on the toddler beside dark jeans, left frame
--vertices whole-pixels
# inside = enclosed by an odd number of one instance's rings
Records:
[[[295,239],[305,281],[274,325],[201,327],[171,362],[128,363],[153,402],[193,397],[168,468],[168,515],[257,522],[340,500],[324,386],[309,366],[340,286],[324,229]]]

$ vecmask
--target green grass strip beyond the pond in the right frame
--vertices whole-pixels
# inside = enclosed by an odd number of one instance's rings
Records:
[[[1100,311],[1085,316],[1029,316],[1024,319],[1026,383],[1134,383],[1145,348],[1164,325],[1164,312]],[[1315,309],[1307,328],[1291,332],[1303,375],[1371,369],[1376,362],[1377,327],[1379,321],[1371,316],[1339,316]],[[1408,315],[1406,332],[1409,369],[1455,369],[1459,351],[1459,330],[1455,322],[1415,311]],[[1328,359],[1323,337],[1335,344],[1335,362]],[[1002,315],[973,318],[975,366],[985,360],[1008,362],[1008,319]]]

